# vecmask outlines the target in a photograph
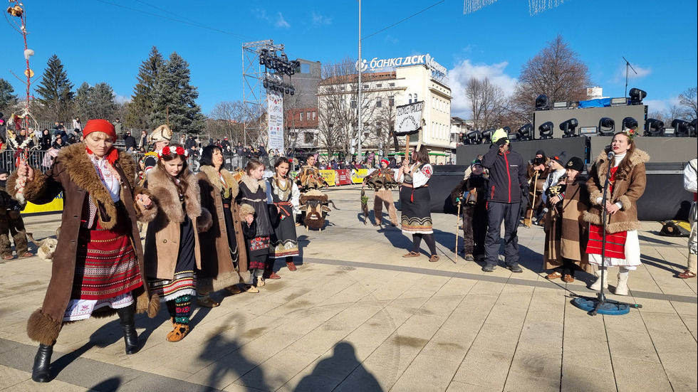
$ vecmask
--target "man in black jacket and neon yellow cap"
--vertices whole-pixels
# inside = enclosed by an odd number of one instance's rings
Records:
[[[504,221],[504,264],[512,272],[523,272],[519,266],[519,206],[521,195],[528,194],[526,164],[511,144],[504,129],[492,135],[492,146],[482,157],[482,166],[489,169],[489,201],[487,202],[487,237],[485,239],[484,272],[492,272],[499,260],[501,222]]]

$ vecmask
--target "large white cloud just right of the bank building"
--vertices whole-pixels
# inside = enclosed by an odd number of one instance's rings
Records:
[[[494,85],[498,85],[504,90],[507,96],[514,92],[516,87],[516,78],[513,78],[506,73],[504,69],[509,65],[506,61],[496,64],[476,64],[473,65],[470,60],[463,60],[457,63],[452,70],[449,70],[449,82],[451,84],[451,115],[469,118],[469,102],[465,97],[465,86],[468,80],[475,77],[479,80],[489,78],[489,81]]]

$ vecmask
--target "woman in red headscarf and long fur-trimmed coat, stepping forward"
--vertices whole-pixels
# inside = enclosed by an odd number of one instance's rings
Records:
[[[144,285],[145,268],[137,221],[150,221],[157,208],[150,192],[135,184],[135,161],[113,147],[114,126],[90,120],[85,144],[62,149],[46,173],[21,164],[8,191],[21,202],[45,204],[63,192],[61,237],[53,257],[51,282],[41,309],[27,322],[39,342],[31,379],[51,380],[53,344],[66,322],[117,313],[126,354],[138,346],[135,312],[155,317],[160,301]]]

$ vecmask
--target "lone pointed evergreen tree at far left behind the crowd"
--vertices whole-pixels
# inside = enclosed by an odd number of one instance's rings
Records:
[[[68,80],[68,73],[57,55],[48,59],[47,67],[36,92],[36,100],[41,103],[44,115],[51,120],[66,121],[71,118],[73,103],[73,84]]]

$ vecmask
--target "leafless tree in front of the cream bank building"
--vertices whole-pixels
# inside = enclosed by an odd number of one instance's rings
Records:
[[[377,75],[363,74],[359,86],[354,64],[355,60],[344,58],[323,65],[323,80],[318,85],[318,137],[329,157],[338,153],[349,156],[358,138],[365,139],[370,134],[358,134],[358,105],[362,107],[364,127],[375,121],[377,94],[370,87]],[[359,88],[362,88],[361,102],[358,102]]]

